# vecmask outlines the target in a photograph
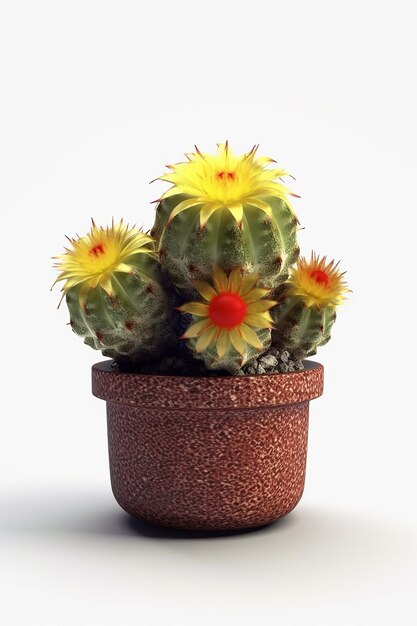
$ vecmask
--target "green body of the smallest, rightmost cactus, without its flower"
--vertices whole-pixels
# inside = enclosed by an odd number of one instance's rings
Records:
[[[307,306],[302,298],[289,296],[271,310],[271,317],[272,345],[287,350],[294,359],[304,359],[329,341],[336,312],[332,306]]]

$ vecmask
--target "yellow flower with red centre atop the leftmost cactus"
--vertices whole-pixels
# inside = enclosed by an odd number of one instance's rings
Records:
[[[61,270],[55,283],[65,281],[63,295],[72,287],[82,285],[80,298],[97,286],[112,296],[112,275],[131,273],[132,256],[147,253],[156,258],[154,240],[138,228],[123,225],[123,220],[116,225],[112,222],[106,228],[97,227],[94,220],[91,221],[91,230],[85,237],[68,238],[72,248],[65,248],[64,254],[54,257],[58,259],[55,269]]]

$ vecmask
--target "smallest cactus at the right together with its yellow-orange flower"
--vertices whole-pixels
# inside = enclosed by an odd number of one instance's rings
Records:
[[[334,261],[326,263],[326,257],[320,259],[314,253],[310,262],[298,259],[277,295],[280,303],[272,311],[272,345],[288,350],[295,359],[316,354],[330,339],[336,307],[347,291]]]

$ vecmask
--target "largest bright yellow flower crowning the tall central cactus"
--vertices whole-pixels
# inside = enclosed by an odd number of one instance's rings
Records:
[[[285,200],[292,194],[282,182],[277,182],[287,172],[282,169],[266,169],[275,163],[269,157],[256,158],[258,146],[250,152],[236,156],[228,142],[218,144],[215,155],[196,152],[186,154],[187,161],[168,165],[171,170],[157,180],[172,183],[160,198],[163,200],[178,194],[189,196],[177,204],[169,216],[172,220],[178,213],[200,207],[200,226],[203,227],[213,213],[226,208],[240,224],[244,210],[256,207],[269,217],[272,210],[264,198],[274,196]]]

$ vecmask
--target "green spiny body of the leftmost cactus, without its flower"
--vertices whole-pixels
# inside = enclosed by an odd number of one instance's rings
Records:
[[[73,331],[84,343],[123,363],[158,358],[174,341],[173,302],[156,259],[140,254],[126,259],[131,273],[111,275],[112,295],[98,286],[66,294]]]

